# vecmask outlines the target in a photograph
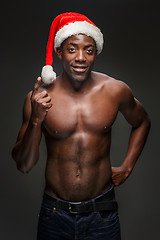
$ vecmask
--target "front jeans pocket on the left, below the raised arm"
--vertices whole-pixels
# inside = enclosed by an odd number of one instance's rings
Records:
[[[54,208],[47,206],[46,204],[42,204],[39,218],[42,220],[50,220],[55,215],[55,212]]]

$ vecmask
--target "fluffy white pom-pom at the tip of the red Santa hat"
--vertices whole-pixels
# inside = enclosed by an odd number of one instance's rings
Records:
[[[42,68],[41,73],[42,81],[45,84],[50,84],[56,79],[56,73],[53,71],[53,67],[46,65]]]

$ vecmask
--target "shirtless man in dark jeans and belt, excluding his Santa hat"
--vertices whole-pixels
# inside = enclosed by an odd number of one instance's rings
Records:
[[[75,34],[56,52],[62,75],[41,86],[37,78],[26,97],[12,152],[18,169],[29,172],[38,161],[43,132],[46,186],[37,239],[119,240],[113,185],[122,184],[132,172],[150,121],[125,83],[92,71],[97,56],[92,37]],[[132,128],[122,165],[111,167],[111,128],[118,111]]]

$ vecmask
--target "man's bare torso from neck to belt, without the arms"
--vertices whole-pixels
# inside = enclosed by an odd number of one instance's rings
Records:
[[[119,107],[116,80],[93,76],[94,86],[83,94],[69,94],[58,84],[48,89],[53,106],[43,123],[46,192],[68,201],[91,199],[111,184],[111,126]]]

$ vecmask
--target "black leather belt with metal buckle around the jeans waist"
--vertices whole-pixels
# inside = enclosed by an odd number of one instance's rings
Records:
[[[44,193],[43,201],[53,208],[62,209],[71,214],[89,213],[93,211],[114,211],[118,209],[118,204],[114,199],[114,189],[100,197],[83,202],[68,202],[51,197]]]

